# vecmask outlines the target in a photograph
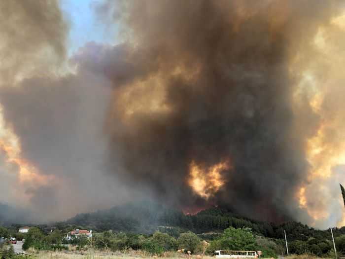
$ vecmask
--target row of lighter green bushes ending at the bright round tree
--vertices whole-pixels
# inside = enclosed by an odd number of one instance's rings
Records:
[[[33,227],[25,234],[24,250],[33,248],[39,250],[67,250],[66,244],[76,245],[79,249],[88,246],[97,250],[124,251],[128,249],[142,250],[150,255],[161,255],[169,251],[181,253],[212,255],[214,250],[252,250],[256,251],[258,244],[249,228],[229,227],[221,236],[210,244],[191,231],[179,234],[177,238],[156,231],[151,235],[104,231],[95,233],[92,239],[74,238],[66,240],[63,232],[55,230],[49,234]],[[272,256],[276,256],[275,251]]]

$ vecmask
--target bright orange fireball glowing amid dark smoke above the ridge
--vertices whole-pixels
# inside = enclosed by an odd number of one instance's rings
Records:
[[[230,168],[229,162],[223,161],[205,170],[193,160],[189,166],[190,179],[188,180],[188,184],[196,194],[208,199],[225,184],[221,172]]]

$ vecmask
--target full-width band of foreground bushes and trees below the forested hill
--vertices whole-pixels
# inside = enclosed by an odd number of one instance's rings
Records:
[[[2,234],[6,233],[6,230],[0,228]],[[7,231],[9,234],[10,230]],[[125,254],[128,251],[138,251],[141,256],[174,257],[177,253],[177,256],[187,258],[193,255],[201,258],[212,256],[215,250],[262,251],[263,258],[277,258],[278,255],[285,254],[282,240],[254,235],[248,227],[228,227],[213,240],[203,240],[191,231],[181,233],[177,237],[160,231],[147,235],[112,230],[94,233],[90,239],[79,237],[67,240],[65,236],[65,232],[59,229],[44,233],[41,229],[33,227],[27,234],[23,234],[25,238],[23,249],[34,254],[39,251],[86,253],[92,250]],[[336,240],[341,253],[345,248],[345,236],[337,237]],[[308,242],[293,241],[289,244],[289,250],[290,253],[298,255],[332,257],[329,241],[321,243],[317,243],[314,239]]]

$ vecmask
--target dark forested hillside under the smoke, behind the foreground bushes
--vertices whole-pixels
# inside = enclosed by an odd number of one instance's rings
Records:
[[[243,218],[235,213],[217,207],[199,212],[196,215],[185,215],[181,211],[151,202],[132,203],[113,207],[109,210],[94,213],[78,214],[61,224],[74,224],[98,231],[152,233],[159,229],[172,235],[185,230],[198,234],[216,235],[229,226],[235,228],[250,227],[253,233],[265,237],[281,239],[286,230],[289,240],[307,241],[310,238],[330,239],[329,230],[317,230],[300,222],[275,224]],[[334,230],[335,235],[345,234],[345,227]]]

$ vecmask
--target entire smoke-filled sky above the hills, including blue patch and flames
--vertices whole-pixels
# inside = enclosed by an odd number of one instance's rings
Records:
[[[0,203],[345,224],[343,1],[1,1],[0,32]]]

